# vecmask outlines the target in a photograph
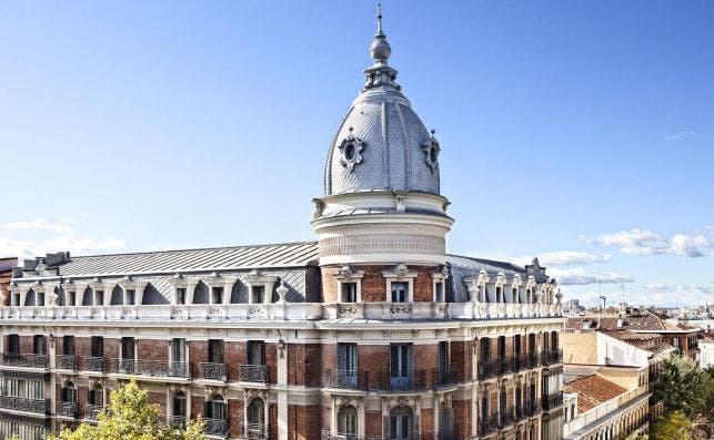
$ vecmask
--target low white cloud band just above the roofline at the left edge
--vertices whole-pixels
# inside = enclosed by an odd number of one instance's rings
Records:
[[[125,241],[123,238],[115,237],[92,239],[87,237],[58,236],[40,242],[31,242],[0,236],[0,256],[34,258],[47,253],[59,250],[69,250],[73,255],[83,255],[121,249],[124,245]]]

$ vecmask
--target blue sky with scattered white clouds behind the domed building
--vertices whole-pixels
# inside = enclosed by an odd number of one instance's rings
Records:
[[[0,2],[0,256],[312,241],[370,1]],[[454,254],[714,303],[714,2],[383,1]]]

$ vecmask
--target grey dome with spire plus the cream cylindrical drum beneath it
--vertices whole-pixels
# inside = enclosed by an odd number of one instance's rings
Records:
[[[453,219],[440,194],[439,142],[395,82],[381,19],[366,81],[330,146],[324,196],[314,199],[323,274],[330,266],[445,263]]]

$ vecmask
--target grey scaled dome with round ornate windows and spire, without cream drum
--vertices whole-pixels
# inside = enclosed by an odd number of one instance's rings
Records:
[[[338,130],[325,165],[325,195],[364,192],[439,194],[439,143],[412,110],[388,65],[379,28],[370,45],[366,83]]]

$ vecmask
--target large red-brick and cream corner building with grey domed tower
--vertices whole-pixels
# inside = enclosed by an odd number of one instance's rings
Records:
[[[331,143],[316,242],[50,254],[0,313],[0,434],[93,422],[135,377],[215,439],[560,439],[560,293],[447,255],[441,146],[388,64]]]

